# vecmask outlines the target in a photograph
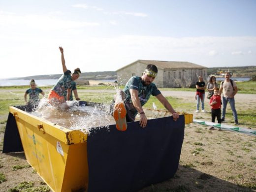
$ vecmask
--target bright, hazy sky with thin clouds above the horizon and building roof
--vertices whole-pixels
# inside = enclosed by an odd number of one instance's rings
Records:
[[[0,78],[137,60],[256,65],[256,0],[0,0]]]

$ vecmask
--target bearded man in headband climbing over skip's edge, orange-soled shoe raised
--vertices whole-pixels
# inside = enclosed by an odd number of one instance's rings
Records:
[[[142,106],[149,100],[150,96],[156,96],[163,106],[172,113],[173,119],[176,121],[179,118],[179,114],[175,112],[168,100],[162,96],[157,86],[153,83],[158,73],[158,68],[154,64],[148,64],[141,77],[131,77],[124,90],[120,91],[120,95],[124,100],[125,107],[120,107],[120,102],[117,103],[117,96],[115,96],[115,106],[112,105],[112,112],[117,123],[117,128],[120,130],[126,130],[126,122],[135,121],[135,116],[140,114],[139,124],[142,128],[147,125],[148,118],[146,117]],[[117,107],[118,106],[118,107]],[[126,111],[125,111],[126,110]],[[124,117],[126,113],[126,118]],[[119,125],[118,125],[119,124]]]

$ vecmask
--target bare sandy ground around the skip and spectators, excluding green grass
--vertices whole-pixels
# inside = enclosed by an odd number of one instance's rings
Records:
[[[195,113],[194,92],[162,91],[162,94],[180,98],[181,102],[193,100],[194,109],[187,109],[187,113],[193,113],[194,119],[211,121],[208,99],[205,100],[208,112]],[[256,95],[237,94],[235,99],[237,110],[256,107]],[[6,119],[6,115],[0,116],[0,122]],[[227,119],[226,124],[232,122],[232,119]],[[256,125],[240,126],[256,129]],[[5,123],[1,123],[0,149],[4,127]],[[208,128],[195,123],[186,125],[179,168],[174,178],[140,192],[256,192],[256,136]],[[15,165],[23,168],[13,170]],[[27,163],[24,153],[0,153],[0,173],[6,179],[0,181],[0,192],[11,192],[15,187],[18,189],[17,186],[24,181],[33,182],[33,187],[39,187],[42,192],[47,191],[43,180]]]

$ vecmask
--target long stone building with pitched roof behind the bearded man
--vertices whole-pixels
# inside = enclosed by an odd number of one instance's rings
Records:
[[[125,85],[132,76],[141,76],[148,64],[155,64],[158,67],[158,75],[154,83],[158,87],[193,87],[198,80],[198,76],[207,79],[207,67],[192,64],[189,62],[165,62],[137,60],[118,69],[118,82]]]

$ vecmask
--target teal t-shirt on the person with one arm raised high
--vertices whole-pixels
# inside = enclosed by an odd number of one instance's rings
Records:
[[[52,90],[55,91],[59,96],[64,96],[64,91],[66,91],[68,88],[71,89],[71,87],[71,71],[66,70]]]

